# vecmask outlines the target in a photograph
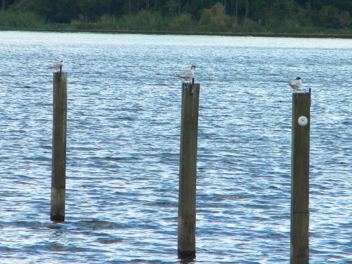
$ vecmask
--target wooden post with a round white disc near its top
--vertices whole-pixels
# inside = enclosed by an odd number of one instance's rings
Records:
[[[309,263],[310,98],[310,90],[292,95],[291,264]]]

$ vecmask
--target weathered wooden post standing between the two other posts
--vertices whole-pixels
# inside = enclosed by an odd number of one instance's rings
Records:
[[[180,182],[178,190],[179,258],[195,258],[196,169],[200,84],[182,83]]]

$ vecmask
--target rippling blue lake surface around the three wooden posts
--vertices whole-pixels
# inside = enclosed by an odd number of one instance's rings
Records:
[[[65,222],[52,71],[68,72]],[[182,79],[200,83],[195,263],[289,263],[291,104],[312,89],[310,263],[352,263],[352,40],[0,31],[1,263],[177,259]]]

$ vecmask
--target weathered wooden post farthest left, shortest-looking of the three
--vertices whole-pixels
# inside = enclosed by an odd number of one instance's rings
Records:
[[[65,220],[67,73],[55,72],[53,77],[53,119],[51,157],[50,220]]]

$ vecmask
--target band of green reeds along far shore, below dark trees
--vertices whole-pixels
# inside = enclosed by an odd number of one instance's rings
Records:
[[[205,15],[209,16],[207,13]],[[196,20],[190,14],[163,15],[161,12],[141,10],[137,14],[121,17],[104,14],[96,21],[89,21],[80,15],[71,23],[51,23],[32,12],[6,10],[0,11],[0,29],[352,35],[351,29],[301,26],[294,19],[262,24],[250,19],[238,21],[221,12],[213,14],[217,17],[211,15]]]

